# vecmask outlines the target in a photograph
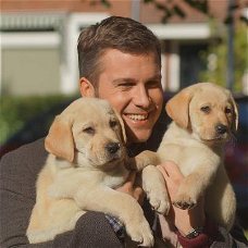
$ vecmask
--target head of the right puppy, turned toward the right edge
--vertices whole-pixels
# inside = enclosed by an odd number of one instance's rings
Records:
[[[202,141],[225,141],[237,129],[238,112],[232,94],[211,83],[183,89],[168,102],[166,111]]]

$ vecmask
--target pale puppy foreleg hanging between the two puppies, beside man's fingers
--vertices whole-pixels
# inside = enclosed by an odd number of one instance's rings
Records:
[[[164,178],[160,171],[148,165],[141,171],[142,189],[146,191],[150,204],[160,213],[168,214],[170,210],[170,198]]]

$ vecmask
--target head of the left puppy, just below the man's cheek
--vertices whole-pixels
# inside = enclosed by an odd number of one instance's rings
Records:
[[[125,156],[124,125],[106,100],[80,98],[52,123],[46,149],[78,166],[110,166]]]

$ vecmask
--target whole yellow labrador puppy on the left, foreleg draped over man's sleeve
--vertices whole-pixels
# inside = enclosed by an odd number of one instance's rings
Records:
[[[26,233],[30,243],[73,230],[79,216],[92,210],[117,216],[133,240],[152,246],[152,233],[138,202],[114,190],[126,181],[128,163],[142,169],[141,162],[136,166],[127,158],[125,139],[122,120],[104,100],[77,99],[55,117],[45,140],[50,154],[38,175],[36,204]],[[162,175],[154,166],[146,170],[145,177],[152,174],[153,178],[147,184],[150,202],[165,212],[169,206]]]

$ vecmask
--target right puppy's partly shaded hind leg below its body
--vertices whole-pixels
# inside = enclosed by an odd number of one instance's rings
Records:
[[[236,199],[223,165],[220,166],[213,184],[208,189],[206,210],[216,223],[228,231],[232,228],[236,213]]]

